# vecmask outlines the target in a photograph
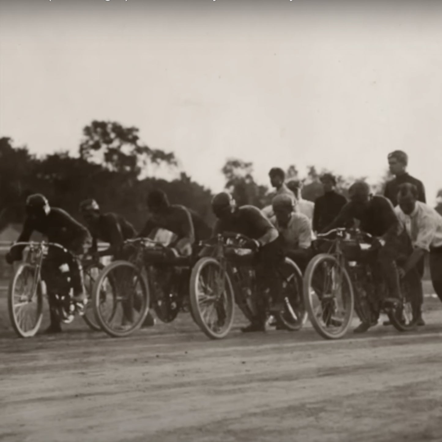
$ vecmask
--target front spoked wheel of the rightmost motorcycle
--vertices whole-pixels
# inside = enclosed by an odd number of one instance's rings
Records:
[[[342,338],[350,327],[354,309],[347,270],[332,255],[316,255],[305,271],[303,292],[315,330],[325,339]]]

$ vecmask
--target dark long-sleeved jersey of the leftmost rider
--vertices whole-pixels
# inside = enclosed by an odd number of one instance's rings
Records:
[[[51,207],[46,217],[40,219],[27,217],[23,225],[23,231],[17,241],[29,241],[34,231],[42,233],[48,241],[61,244],[67,249],[70,249],[73,244],[79,244],[81,241],[90,238],[90,233],[84,225],[81,225],[69,213],[57,207]]]

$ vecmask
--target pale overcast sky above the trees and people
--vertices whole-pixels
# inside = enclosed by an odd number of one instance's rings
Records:
[[[0,135],[76,153],[137,126],[221,190],[229,156],[442,187],[442,1],[0,0]]]

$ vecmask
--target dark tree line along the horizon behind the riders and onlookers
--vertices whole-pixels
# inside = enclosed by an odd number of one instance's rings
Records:
[[[83,129],[78,156],[61,151],[37,157],[26,146],[15,146],[11,137],[1,137],[0,230],[11,222],[23,222],[24,202],[29,194],[37,192],[74,217],[79,217],[80,201],[95,198],[103,211],[122,213],[140,229],[147,216],[145,198],[153,188],[164,190],[171,203],[196,210],[212,224],[211,191],[179,170],[173,152],[150,148],[138,133],[138,128],[118,122],[92,121]],[[149,176],[156,168],[169,168],[177,172],[178,178],[167,181]],[[232,191],[239,205],[262,208],[270,204],[272,192],[256,183],[252,162],[229,158],[221,171],[225,187]],[[315,201],[322,194],[319,176],[325,171],[319,172],[315,166],[308,168],[302,179],[303,198]],[[287,180],[299,179],[295,165],[287,167],[286,176]],[[346,194],[352,181],[353,177],[338,175],[338,190]],[[379,190],[382,184],[377,186]],[[442,189],[438,196],[438,210],[442,213]]]

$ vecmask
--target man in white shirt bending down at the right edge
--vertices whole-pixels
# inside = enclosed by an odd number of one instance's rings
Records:
[[[404,277],[429,252],[431,282],[442,301],[442,216],[418,201],[419,191],[413,184],[401,184],[397,198],[397,216],[405,225],[414,248],[404,267],[399,269],[399,274]]]

